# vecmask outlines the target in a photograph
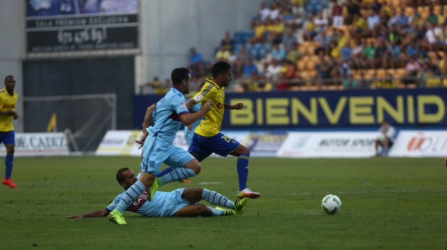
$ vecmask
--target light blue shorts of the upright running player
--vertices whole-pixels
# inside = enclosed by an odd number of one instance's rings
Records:
[[[194,157],[182,148],[166,143],[158,136],[148,136],[143,146],[143,159],[140,164],[142,172],[157,175],[165,163],[172,168],[182,168]]]

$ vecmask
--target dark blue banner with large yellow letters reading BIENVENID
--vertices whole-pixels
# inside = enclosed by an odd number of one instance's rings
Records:
[[[146,107],[162,96],[134,96],[134,124],[140,129]],[[447,89],[285,91],[226,93],[223,130],[297,130],[378,127],[446,127]]]

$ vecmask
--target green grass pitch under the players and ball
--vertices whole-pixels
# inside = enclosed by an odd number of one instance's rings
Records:
[[[447,168],[439,158],[252,158],[248,184],[262,197],[249,200],[242,216],[126,212],[126,226],[105,217],[65,218],[103,209],[121,192],[115,172],[137,172],[139,163],[138,157],[16,157],[19,188],[0,186],[0,249],[447,249]],[[201,187],[234,199],[235,163],[206,159],[192,184],[161,190]],[[342,201],[337,215],[321,209],[329,193]]]

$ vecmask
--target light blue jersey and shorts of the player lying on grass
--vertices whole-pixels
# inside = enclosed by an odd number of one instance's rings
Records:
[[[148,193],[144,192],[140,197],[135,199],[135,202],[133,202],[126,211],[150,217],[171,217],[177,213],[180,208],[190,205],[186,199],[182,198],[184,190],[185,188],[178,188],[171,192],[158,191],[155,193],[151,202],[147,199]],[[125,193],[126,192],[123,192],[117,195],[106,209],[108,211],[113,211]]]

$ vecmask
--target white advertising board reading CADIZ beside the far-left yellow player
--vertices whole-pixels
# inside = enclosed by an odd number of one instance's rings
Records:
[[[0,150],[6,151],[3,143]],[[17,157],[68,155],[67,138],[64,133],[16,133],[15,153]]]

